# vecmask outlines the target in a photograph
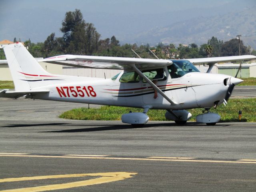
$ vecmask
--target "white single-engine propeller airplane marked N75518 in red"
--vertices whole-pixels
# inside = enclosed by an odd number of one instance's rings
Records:
[[[148,122],[150,109],[164,109],[166,119],[185,124],[192,116],[187,109],[204,108],[196,121],[216,124],[220,116],[209,109],[226,104],[242,80],[211,74],[212,67],[217,62],[256,59],[252,55],[186,60],[61,55],[42,60],[81,68],[123,69],[111,79],[103,79],[50,74],[21,43],[4,46],[4,52],[15,91],[1,90],[0,97],[142,108],[143,112],[122,115],[122,122],[134,127]],[[193,64],[208,64],[209,68],[202,73]]]

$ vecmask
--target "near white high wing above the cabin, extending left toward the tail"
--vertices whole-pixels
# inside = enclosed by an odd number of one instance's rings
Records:
[[[80,55],[60,55],[51,58],[38,60],[47,63],[73,66],[79,68],[105,68],[105,69],[127,69],[135,64],[137,68],[149,68],[155,66],[168,66],[172,64],[170,60],[164,59],[143,59],[124,57],[104,57],[104,56],[80,56]]]

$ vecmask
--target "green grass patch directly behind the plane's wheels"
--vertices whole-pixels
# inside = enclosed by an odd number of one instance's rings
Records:
[[[211,112],[216,112],[221,116],[221,122],[238,122],[238,111],[242,110],[243,122],[256,122],[256,99],[230,99],[227,106],[218,106]],[[190,121],[196,121],[196,116],[202,113],[202,108],[188,110],[192,114]],[[132,112],[142,112],[142,109],[102,106],[100,109],[78,108],[62,113],[59,117],[76,120],[121,120],[122,114]],[[151,121],[166,121],[164,117],[166,110],[149,110],[148,116]]]

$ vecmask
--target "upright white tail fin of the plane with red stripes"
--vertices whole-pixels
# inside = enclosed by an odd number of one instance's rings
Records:
[[[31,90],[40,86],[36,82],[40,81],[41,76],[51,76],[21,43],[5,46],[4,53],[16,91]]]

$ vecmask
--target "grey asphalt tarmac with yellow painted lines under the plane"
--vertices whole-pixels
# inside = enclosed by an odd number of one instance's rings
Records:
[[[58,118],[82,106],[0,98],[0,191],[256,191],[256,123]]]

